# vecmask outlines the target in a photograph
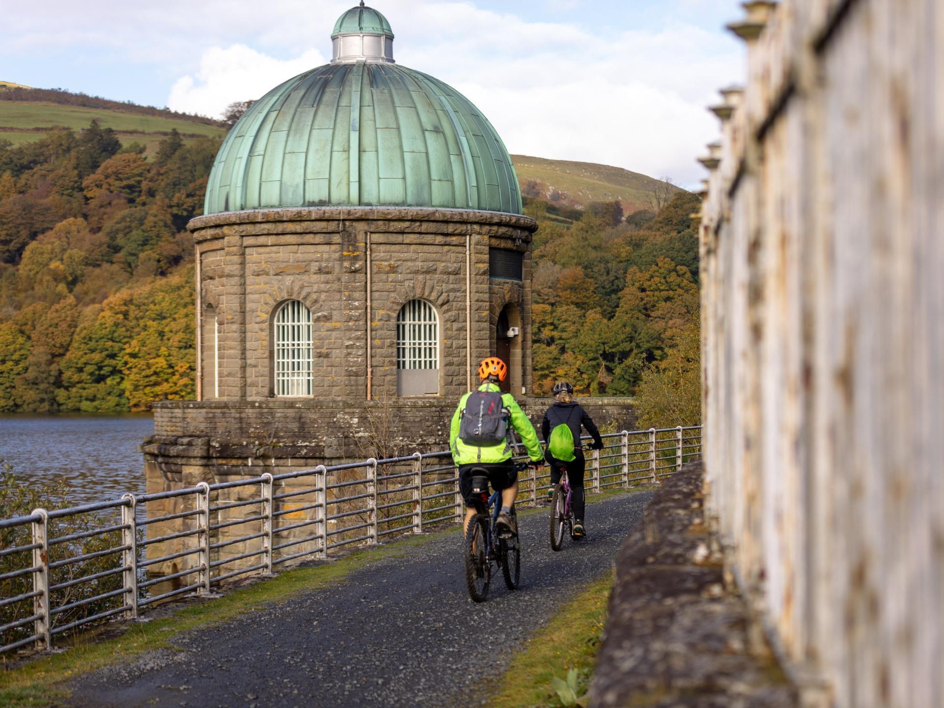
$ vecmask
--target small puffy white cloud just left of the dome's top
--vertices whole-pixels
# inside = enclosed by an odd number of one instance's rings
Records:
[[[282,61],[267,57],[244,44],[203,53],[196,76],[177,79],[167,106],[173,110],[220,117],[233,101],[257,99],[283,81],[325,63],[321,53],[310,49],[297,59]]]

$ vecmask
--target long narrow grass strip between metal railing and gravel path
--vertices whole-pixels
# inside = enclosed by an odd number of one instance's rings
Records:
[[[364,565],[386,558],[405,558],[412,548],[458,529],[453,526],[430,535],[407,537],[386,546],[358,550],[329,563],[288,570],[275,578],[233,589],[223,598],[191,604],[149,622],[131,623],[121,636],[105,641],[97,641],[92,634],[78,635],[71,644],[67,643],[68,651],[0,671],[0,706],[47,706],[66,699],[69,692],[62,683],[78,675],[133,660],[143,651],[174,649],[171,640],[181,632],[226,622],[271,607],[300,592],[344,582]]]

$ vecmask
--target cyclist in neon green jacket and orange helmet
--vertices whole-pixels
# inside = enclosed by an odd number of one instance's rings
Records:
[[[478,391],[496,393],[501,396],[501,414],[504,422],[509,429],[515,430],[521,436],[521,442],[524,443],[528,456],[531,458],[531,466],[540,467],[544,464],[544,453],[534,426],[514,400],[514,396],[501,394],[501,389],[498,387],[498,383],[507,377],[508,366],[505,362],[497,357],[489,357],[479,365],[481,385]],[[518,474],[514,469],[512,447],[507,436],[494,445],[479,445],[466,442],[461,435],[463,414],[472,393],[465,394],[459,401],[449,428],[449,449],[452,450],[453,462],[459,467],[459,488],[465,501],[464,529],[468,529],[469,521],[475,515],[475,500],[472,497],[473,470],[482,470],[488,476],[492,487],[501,492],[501,511],[496,520],[497,526],[503,526],[517,533],[517,524],[512,510],[514,499],[518,495]]]

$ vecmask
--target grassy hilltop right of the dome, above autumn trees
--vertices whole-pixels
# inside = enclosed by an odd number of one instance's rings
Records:
[[[594,162],[546,160],[528,155],[513,155],[512,160],[521,194],[571,207],[618,199],[624,211],[632,213],[649,209],[650,194],[665,185],[638,172]]]

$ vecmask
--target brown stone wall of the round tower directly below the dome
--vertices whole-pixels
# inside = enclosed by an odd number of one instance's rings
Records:
[[[371,262],[372,390],[396,395],[396,314],[413,298],[440,316],[440,394],[466,390],[466,241],[471,246],[471,360],[494,354],[497,313],[522,317],[514,363],[531,390],[531,232],[534,222],[486,211],[292,209],[245,211],[191,222],[201,263],[203,313],[219,326],[219,398],[273,397],[273,317],[301,300],[312,312],[315,398],[366,399],[367,262]],[[489,248],[525,254],[524,278],[495,287]],[[201,360],[211,360],[203,337]],[[216,390],[204,375],[203,397]],[[520,393],[520,392],[516,392]]]

